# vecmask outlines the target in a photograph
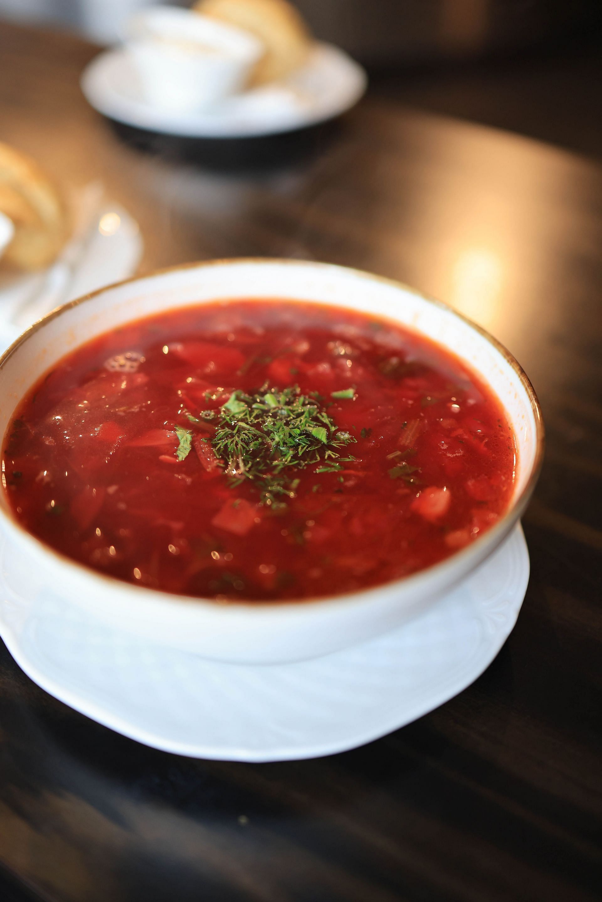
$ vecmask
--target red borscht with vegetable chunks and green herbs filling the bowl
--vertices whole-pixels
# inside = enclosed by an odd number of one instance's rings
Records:
[[[366,589],[505,512],[514,437],[458,358],[343,308],[232,300],[117,328],[14,412],[3,482],[51,548],[227,600]]]

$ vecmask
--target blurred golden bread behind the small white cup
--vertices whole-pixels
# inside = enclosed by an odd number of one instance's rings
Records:
[[[255,66],[251,85],[284,78],[307,59],[310,32],[285,0],[200,0],[193,9],[236,25],[264,43],[264,56]]]

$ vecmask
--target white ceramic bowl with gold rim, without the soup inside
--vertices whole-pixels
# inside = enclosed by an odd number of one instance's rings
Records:
[[[138,318],[216,299],[317,301],[382,315],[428,336],[466,362],[495,392],[514,430],[518,466],[508,510],[468,548],[415,575],[354,594],[282,603],[217,603],[98,574],[14,520],[5,493],[0,530],[24,558],[24,593],[43,603],[60,592],[116,628],[207,658],[273,663],[319,657],[394,630],[449,592],[489,557],[521,516],[543,450],[539,405],[514,358],[479,327],[440,302],[367,272],[292,260],[200,262],[101,289],[32,326],[0,359],[0,433],[43,373],[82,343]]]

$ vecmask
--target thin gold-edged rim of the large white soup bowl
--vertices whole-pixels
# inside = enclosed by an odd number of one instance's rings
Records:
[[[356,592],[347,592],[340,593],[336,595],[318,595],[310,598],[301,598],[301,599],[282,599],[282,600],[230,600],[228,599],[227,603],[223,603],[214,598],[203,598],[196,595],[185,595],[185,594],[174,594],[166,592],[162,589],[155,589],[146,585],[137,585],[132,583],[126,583],[125,580],[121,580],[116,578],[115,576],[107,575],[100,573],[99,571],[93,569],[92,567],[88,567],[85,564],[80,563],[79,561],[73,560],[73,558],[68,557],[67,555],[63,555],[60,551],[57,551],[55,548],[51,548],[50,545],[47,545],[40,538],[32,535],[27,529],[21,525],[21,523],[14,518],[12,511],[5,510],[4,505],[0,505],[0,518],[4,520],[6,523],[10,525],[11,528],[16,529],[21,538],[25,539],[26,542],[32,547],[37,549],[38,552],[42,552],[43,556],[49,556],[54,561],[54,563],[58,563],[60,566],[68,566],[69,568],[75,568],[76,573],[83,578],[88,578],[92,581],[97,580],[100,581],[100,584],[110,591],[119,591],[124,594],[131,595],[132,598],[138,599],[140,601],[143,600],[143,595],[147,596],[145,603],[154,602],[154,603],[168,603],[172,606],[185,605],[190,609],[190,605],[194,604],[197,608],[205,608],[209,609],[212,612],[234,612],[236,610],[247,612],[249,610],[253,610],[256,612],[264,611],[264,612],[283,612],[286,610],[291,610],[295,612],[299,612],[302,607],[306,607],[308,609],[315,608],[316,606],[322,607],[330,606],[330,605],[338,605],[342,603],[361,603],[366,600],[366,598],[370,595],[374,596],[377,594],[381,594],[383,591],[391,591],[397,587],[399,589],[412,586],[420,585],[425,580],[428,580],[432,575],[443,574],[446,568],[449,568],[453,565],[454,562],[461,560],[464,558],[465,560],[470,557],[475,557],[478,553],[479,548],[484,547],[484,543],[488,542],[493,548],[496,548],[499,542],[505,537],[506,533],[511,529],[514,525],[514,521],[518,519],[521,513],[524,510],[527,502],[529,501],[533,489],[535,487],[535,483],[539,478],[541,469],[542,469],[542,461],[543,461],[543,453],[545,448],[545,428],[543,425],[542,419],[542,410],[540,406],[539,399],[535,390],[533,389],[533,384],[527,374],[524,372],[521,364],[518,363],[514,354],[511,354],[510,351],[503,345],[500,341],[497,340],[494,336],[492,336],[487,330],[477,323],[475,323],[472,319],[465,316],[463,313],[458,312],[458,310],[451,307],[445,301],[440,299],[431,298],[429,295],[423,294],[421,291],[412,288],[412,286],[408,285],[403,281],[399,281],[396,279],[390,279],[387,276],[381,276],[374,272],[368,272],[366,270],[360,270],[356,267],[351,266],[343,266],[338,263],[329,263],[329,262],[321,262],[321,261],[311,261],[311,260],[296,260],[294,258],[289,257],[220,257],[212,260],[200,260],[194,262],[185,262],[179,263],[172,266],[162,267],[157,270],[153,270],[152,272],[148,272],[143,275],[134,275],[128,279],[122,279],[120,281],[111,282],[108,285],[103,285],[101,288],[98,288],[94,291],[89,291],[87,294],[81,295],[79,298],[74,298],[72,300],[67,301],[64,304],[61,304],[60,307],[55,308],[47,313],[44,317],[38,319],[36,322],[32,323],[30,327],[28,327],[20,336],[18,336],[12,345],[9,345],[5,349],[5,352],[0,355],[0,377],[2,376],[5,364],[9,360],[9,358],[15,354],[19,348],[24,345],[28,339],[37,333],[40,329],[45,327],[52,320],[60,317],[63,313],[67,312],[69,309],[74,307],[79,307],[79,305],[85,303],[88,300],[92,300],[98,297],[98,295],[104,294],[106,291],[110,291],[116,288],[121,288],[124,285],[131,284],[136,281],[145,281],[149,279],[154,279],[158,276],[168,275],[171,272],[182,272],[186,270],[195,270],[195,269],[205,269],[213,266],[237,266],[237,265],[292,265],[292,266],[308,266],[310,268],[314,268],[316,270],[327,271],[342,271],[342,272],[350,272],[353,275],[366,279],[367,281],[377,281],[384,285],[391,286],[395,289],[402,289],[405,291],[409,291],[414,296],[420,298],[421,300],[425,300],[427,303],[431,304],[433,307],[439,308],[445,313],[450,313],[454,317],[458,318],[462,322],[464,322],[468,327],[472,328],[478,335],[482,336],[486,339],[490,345],[492,345],[495,351],[498,354],[501,354],[504,357],[507,364],[511,366],[514,370],[514,373],[518,376],[518,380],[523,386],[523,390],[529,400],[529,404],[533,413],[533,420],[535,424],[535,449],[533,456],[533,465],[531,467],[531,472],[527,478],[526,483],[524,484],[523,491],[514,498],[511,505],[505,511],[504,516],[498,520],[495,525],[491,529],[487,529],[485,533],[478,536],[474,541],[472,541],[465,548],[460,548],[458,551],[455,551],[453,554],[449,555],[449,557],[445,557],[443,560],[439,561],[436,564],[432,564],[431,566],[424,567],[421,570],[416,571],[416,573],[410,574],[408,576],[403,576],[399,579],[389,580],[385,583],[379,583],[371,586],[367,586],[365,589],[359,589]],[[291,297],[291,300],[301,300],[301,298]],[[190,305],[191,306],[191,305]],[[342,305],[344,306],[344,305]],[[458,358],[462,360],[460,354],[457,354]],[[60,358],[61,359],[61,358]],[[483,375],[482,373],[479,373]],[[487,380],[485,379],[485,382]],[[487,382],[488,384],[488,382]],[[4,436],[1,437],[2,442],[4,443]],[[1,450],[1,448],[0,448]],[[1,491],[1,490],[0,490]],[[518,515],[516,515],[516,511],[519,511]]]

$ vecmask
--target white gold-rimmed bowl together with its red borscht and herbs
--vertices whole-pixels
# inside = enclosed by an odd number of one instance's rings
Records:
[[[394,281],[200,262],[109,286],[0,360],[21,594],[208,658],[328,654],[492,554],[542,459],[495,339]]]

